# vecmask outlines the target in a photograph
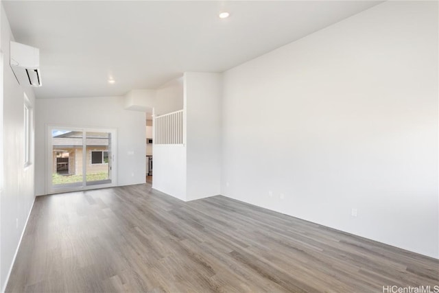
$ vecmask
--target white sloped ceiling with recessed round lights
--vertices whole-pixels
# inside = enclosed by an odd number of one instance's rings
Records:
[[[37,97],[123,95],[222,72],[380,2],[2,1],[16,41],[40,49]]]

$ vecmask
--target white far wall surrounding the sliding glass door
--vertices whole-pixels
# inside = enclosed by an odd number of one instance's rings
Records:
[[[36,99],[37,196],[46,193],[47,125],[116,128],[117,185],[145,183],[145,113],[123,107],[123,97]]]

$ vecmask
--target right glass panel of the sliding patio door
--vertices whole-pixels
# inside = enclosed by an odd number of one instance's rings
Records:
[[[111,183],[111,132],[86,132],[86,185]]]

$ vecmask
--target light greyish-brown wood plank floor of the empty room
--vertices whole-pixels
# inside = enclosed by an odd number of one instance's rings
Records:
[[[36,198],[6,291],[383,292],[383,285],[439,285],[439,261],[223,196],[185,203],[146,184]]]

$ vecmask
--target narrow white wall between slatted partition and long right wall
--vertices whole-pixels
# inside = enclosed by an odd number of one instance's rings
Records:
[[[184,75],[187,200],[220,194],[222,75]]]

